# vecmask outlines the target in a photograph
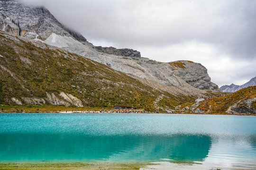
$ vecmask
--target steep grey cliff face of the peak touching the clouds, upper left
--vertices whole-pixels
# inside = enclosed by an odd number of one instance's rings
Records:
[[[32,8],[16,0],[0,0],[0,29],[31,39],[46,40],[55,33],[86,41],[81,34],[62,26],[46,8]]]

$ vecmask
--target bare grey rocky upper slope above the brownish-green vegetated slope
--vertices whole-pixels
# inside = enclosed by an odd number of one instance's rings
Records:
[[[139,57],[138,51],[110,48],[99,50],[82,35],[62,26],[45,8],[29,7],[14,0],[0,0],[0,16],[0,29],[4,31],[44,41],[103,63],[115,70],[136,76],[141,83],[154,89],[183,95],[205,93],[200,89],[219,90],[217,85],[210,82],[206,68],[198,63],[180,61],[183,67],[179,68],[175,64]]]

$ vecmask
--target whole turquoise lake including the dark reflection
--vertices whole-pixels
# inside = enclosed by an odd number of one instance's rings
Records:
[[[170,161],[256,169],[256,117],[0,113],[0,161]]]

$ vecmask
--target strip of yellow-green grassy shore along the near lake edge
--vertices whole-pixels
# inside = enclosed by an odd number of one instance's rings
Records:
[[[151,163],[0,163],[0,170],[139,170]]]

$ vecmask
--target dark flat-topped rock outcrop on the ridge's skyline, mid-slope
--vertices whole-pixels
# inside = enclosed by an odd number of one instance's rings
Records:
[[[140,52],[132,49],[116,49],[114,47],[101,47],[96,46],[95,49],[99,52],[112,54],[124,57],[141,57]]]

